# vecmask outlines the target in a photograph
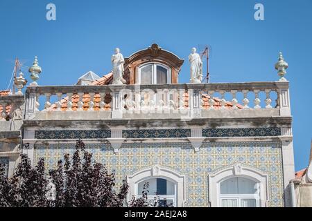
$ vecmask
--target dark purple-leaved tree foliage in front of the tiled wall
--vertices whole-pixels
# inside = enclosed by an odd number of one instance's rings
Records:
[[[144,184],[142,197],[133,196],[128,206],[159,206],[157,198],[154,202],[148,200],[148,186]],[[0,165],[0,207],[121,207],[127,205],[127,194],[127,182],[123,180],[117,191],[115,172],[110,173],[105,165],[93,162],[92,153],[85,151],[81,140],[76,142],[72,157],[65,154],[49,175],[43,158],[32,168],[24,154],[11,178],[6,176],[4,165]]]

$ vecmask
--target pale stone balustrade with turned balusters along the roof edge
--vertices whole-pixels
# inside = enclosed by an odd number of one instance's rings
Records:
[[[290,116],[288,81],[28,86],[26,119]]]

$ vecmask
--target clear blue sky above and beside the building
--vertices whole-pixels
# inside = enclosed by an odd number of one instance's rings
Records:
[[[46,20],[55,3],[56,21]],[[254,5],[265,20],[254,20]],[[31,66],[38,56],[40,85],[69,85],[93,70],[108,73],[116,46],[126,57],[157,43],[187,59],[193,46],[209,44],[211,82],[275,81],[282,51],[289,64],[295,169],[307,166],[311,142],[312,1],[0,1],[0,88],[13,60]],[[28,79],[27,69],[24,73]],[[189,64],[180,72],[189,81]]]

